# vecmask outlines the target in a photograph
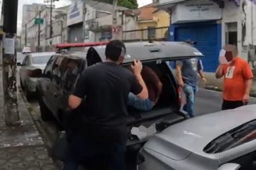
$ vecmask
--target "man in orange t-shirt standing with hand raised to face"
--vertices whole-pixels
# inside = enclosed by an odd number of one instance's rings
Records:
[[[216,78],[220,79],[224,76],[222,110],[227,110],[241,107],[249,102],[253,71],[249,63],[238,56],[237,46],[227,45],[224,50],[225,55],[232,54],[233,60],[220,63],[216,70]]]

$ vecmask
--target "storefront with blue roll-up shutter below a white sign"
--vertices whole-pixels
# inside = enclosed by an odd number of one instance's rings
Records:
[[[186,1],[172,10],[170,40],[196,41],[204,54],[204,71],[214,72],[221,49],[221,8],[213,1]]]

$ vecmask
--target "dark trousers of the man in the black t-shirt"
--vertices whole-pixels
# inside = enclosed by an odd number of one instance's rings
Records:
[[[93,170],[125,170],[126,142],[96,143],[78,135],[72,137],[63,170],[78,170],[82,163]]]

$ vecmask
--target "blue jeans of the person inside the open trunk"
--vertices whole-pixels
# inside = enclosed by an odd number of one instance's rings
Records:
[[[150,111],[155,103],[149,99],[139,99],[139,97],[130,92],[127,105],[141,111]]]

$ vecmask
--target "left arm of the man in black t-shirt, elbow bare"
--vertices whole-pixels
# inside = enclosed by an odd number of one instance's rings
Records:
[[[86,95],[86,87],[85,84],[88,84],[86,82],[86,73],[85,71],[80,76],[79,80],[77,80],[77,84],[75,87],[75,91],[72,93],[72,95],[69,96],[68,104],[71,109],[76,109],[79,107],[79,105],[82,102],[82,99]]]

